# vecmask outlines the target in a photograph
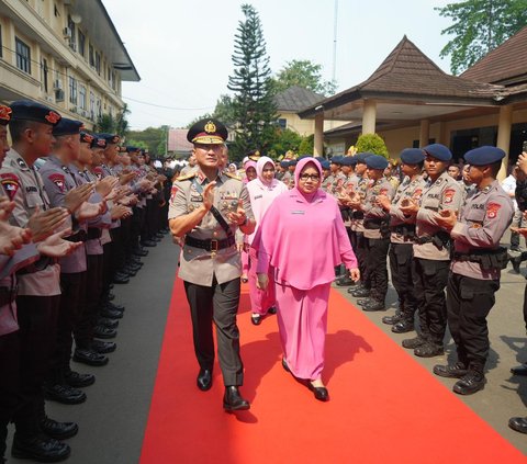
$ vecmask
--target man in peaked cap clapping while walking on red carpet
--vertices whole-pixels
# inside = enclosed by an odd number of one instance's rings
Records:
[[[215,120],[202,120],[188,132],[199,169],[172,185],[169,224],[172,236],[184,237],[179,276],[190,305],[194,351],[200,364],[198,387],[212,386],[216,326],[220,366],[225,384],[225,410],[248,409],[238,391],[244,365],[239,357],[236,314],[239,304],[242,263],[235,247],[237,228],[255,229],[249,196],[237,178],[218,171],[227,129]]]

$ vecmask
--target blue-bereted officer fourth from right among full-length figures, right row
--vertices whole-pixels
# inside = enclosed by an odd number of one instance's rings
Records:
[[[388,293],[386,256],[390,247],[390,215],[380,205],[378,197],[385,196],[391,200],[394,191],[392,184],[383,176],[388,166],[386,158],[380,155],[371,155],[366,158],[366,166],[368,178],[372,183],[369,185],[366,197],[358,210],[365,214],[366,267],[371,286],[369,297],[359,299],[357,303],[362,306],[363,310],[384,310]]]

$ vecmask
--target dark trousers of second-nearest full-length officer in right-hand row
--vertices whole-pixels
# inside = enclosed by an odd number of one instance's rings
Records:
[[[422,337],[442,346],[447,330],[447,304],[445,287],[450,261],[414,258],[412,275],[415,297],[418,302]]]

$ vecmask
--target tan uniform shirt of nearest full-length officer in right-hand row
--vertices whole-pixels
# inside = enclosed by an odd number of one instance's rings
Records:
[[[457,252],[482,252],[500,247],[500,240],[513,220],[514,206],[497,180],[483,190],[478,190],[461,208],[459,219],[450,235]],[[456,274],[480,280],[500,279],[501,269],[481,269],[479,262],[460,261],[453,258],[450,269]]]

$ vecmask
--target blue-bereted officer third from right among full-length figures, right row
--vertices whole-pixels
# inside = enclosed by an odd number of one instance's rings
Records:
[[[390,213],[390,271],[392,284],[397,292],[399,309],[395,316],[383,317],[384,324],[391,324],[392,332],[404,333],[414,329],[414,316],[417,301],[414,295],[412,261],[415,238],[415,216],[405,216],[400,206],[408,201],[418,202],[425,181],[422,176],[425,155],[418,148],[401,151],[401,169],[405,176],[399,185],[393,201],[380,196],[379,203]]]

